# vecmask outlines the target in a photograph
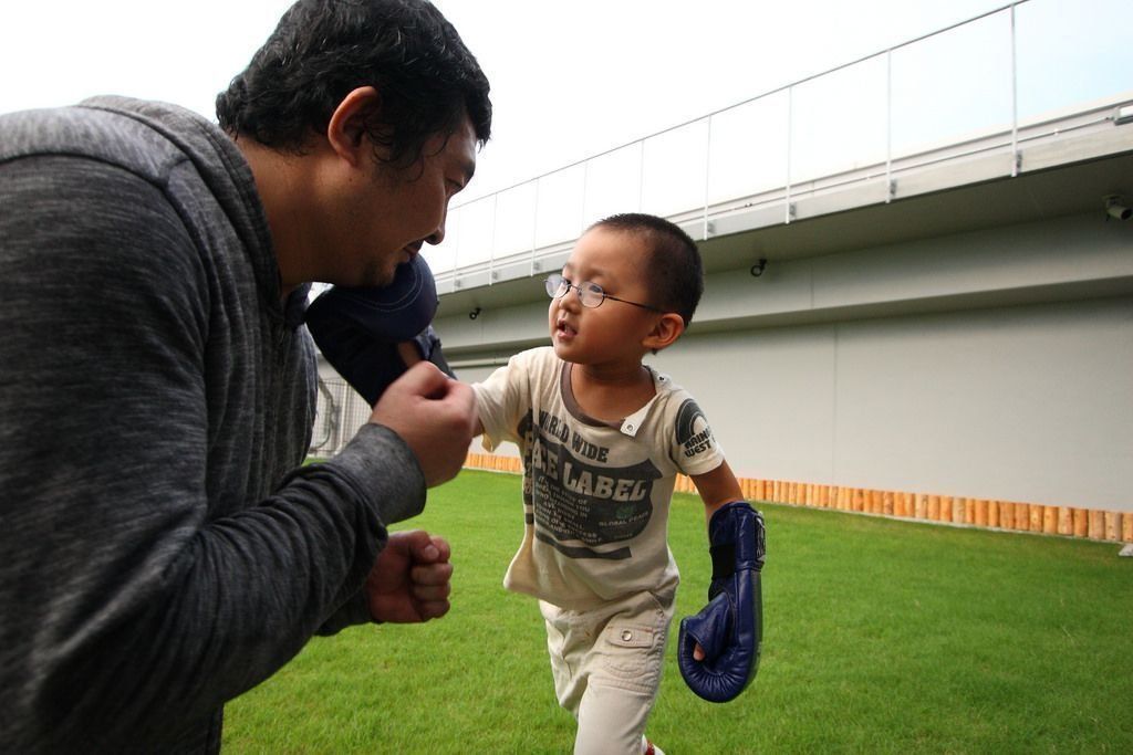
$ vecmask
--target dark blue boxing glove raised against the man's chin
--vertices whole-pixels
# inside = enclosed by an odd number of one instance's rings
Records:
[[[398,265],[387,286],[334,286],[307,308],[307,328],[323,357],[373,406],[407,367],[399,343],[414,343],[421,359],[450,377],[433,315],[437,308],[433,273],[421,256]]]

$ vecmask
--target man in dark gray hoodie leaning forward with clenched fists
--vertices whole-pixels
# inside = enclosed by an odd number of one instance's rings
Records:
[[[487,95],[424,0],[300,0],[221,128],[0,115],[0,752],[215,752],[314,634],[448,611],[448,543],[387,526],[459,471],[471,392],[419,363],[301,466],[303,317],[440,243]]]

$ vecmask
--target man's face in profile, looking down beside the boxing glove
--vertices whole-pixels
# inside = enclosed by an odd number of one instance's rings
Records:
[[[329,235],[342,285],[389,285],[397,266],[424,243],[444,240],[449,200],[476,170],[476,134],[466,118],[451,136],[425,143],[419,162],[394,168],[367,160],[339,195]]]

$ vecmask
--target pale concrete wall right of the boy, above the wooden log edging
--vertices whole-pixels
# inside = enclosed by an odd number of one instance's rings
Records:
[[[741,477],[1133,511],[1133,298],[717,333],[656,364]]]

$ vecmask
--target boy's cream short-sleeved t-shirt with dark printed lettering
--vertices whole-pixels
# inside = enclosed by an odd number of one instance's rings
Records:
[[[650,369],[656,395],[621,423],[587,417],[571,364],[550,346],[512,357],[474,385],[484,447],[519,446],[523,541],[504,586],[568,610],[675,590],[668,505],[678,472],[724,462],[692,396]]]

